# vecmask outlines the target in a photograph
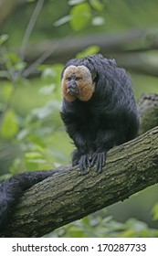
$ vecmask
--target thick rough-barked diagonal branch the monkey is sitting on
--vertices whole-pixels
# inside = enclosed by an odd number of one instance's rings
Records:
[[[146,101],[146,97],[142,99]],[[95,172],[95,167],[85,176],[80,176],[78,166],[58,168],[54,176],[31,187],[20,198],[13,220],[0,236],[43,236],[157,182],[158,126],[111,149],[101,174]]]

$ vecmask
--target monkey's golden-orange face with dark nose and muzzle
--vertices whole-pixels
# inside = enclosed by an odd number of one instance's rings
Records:
[[[61,80],[63,97],[67,101],[89,101],[94,91],[90,70],[85,66],[68,66]]]

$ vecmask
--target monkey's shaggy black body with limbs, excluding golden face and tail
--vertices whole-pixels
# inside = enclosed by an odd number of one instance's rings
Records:
[[[71,59],[65,69],[70,65],[84,65],[91,74],[96,74],[95,91],[89,101],[63,99],[61,118],[77,147],[72,165],[79,165],[85,174],[96,164],[100,172],[107,151],[132,140],[138,133],[139,117],[131,78],[125,69],[117,67],[114,59],[104,59],[100,54]]]

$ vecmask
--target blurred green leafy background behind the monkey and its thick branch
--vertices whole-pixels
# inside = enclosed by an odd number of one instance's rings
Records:
[[[158,93],[158,0],[0,0],[0,179],[70,163],[60,74],[101,53]],[[158,237],[158,186],[48,234]]]

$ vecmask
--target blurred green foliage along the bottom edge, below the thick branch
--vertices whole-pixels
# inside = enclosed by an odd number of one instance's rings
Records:
[[[93,214],[82,220],[77,220],[57,229],[52,233],[55,237],[69,238],[157,238],[158,230],[150,229],[148,225],[137,219],[128,219],[124,223],[115,221],[112,217],[101,217]]]

